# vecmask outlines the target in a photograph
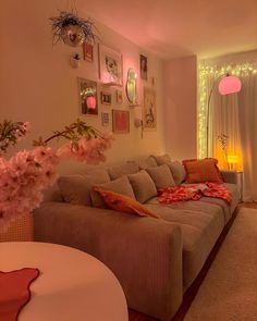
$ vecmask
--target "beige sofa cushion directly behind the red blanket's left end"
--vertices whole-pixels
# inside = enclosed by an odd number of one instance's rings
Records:
[[[149,168],[146,169],[146,171],[150,175],[151,180],[155,182],[157,189],[175,185],[175,182],[171,174],[171,170],[167,164],[157,168]]]

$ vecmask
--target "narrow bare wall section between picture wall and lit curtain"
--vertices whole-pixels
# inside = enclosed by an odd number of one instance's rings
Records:
[[[196,57],[164,63],[166,149],[173,159],[196,158],[197,62]]]

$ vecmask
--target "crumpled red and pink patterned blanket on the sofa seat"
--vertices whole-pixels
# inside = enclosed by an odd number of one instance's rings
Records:
[[[203,196],[224,199],[228,205],[232,201],[232,195],[224,185],[208,182],[160,188],[158,193],[158,201],[167,205],[175,201],[198,200]]]

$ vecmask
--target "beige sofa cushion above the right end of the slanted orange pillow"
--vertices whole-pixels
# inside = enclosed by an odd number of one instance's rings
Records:
[[[139,202],[146,202],[148,199],[157,196],[156,185],[146,171],[139,171],[136,174],[127,175],[127,177]]]

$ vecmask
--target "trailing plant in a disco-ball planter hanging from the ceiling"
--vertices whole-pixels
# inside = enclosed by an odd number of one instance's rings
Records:
[[[96,41],[96,27],[90,20],[78,17],[72,12],[61,11],[59,16],[50,17],[52,23],[52,40],[56,45],[63,41],[71,47],[77,47],[84,41]]]

